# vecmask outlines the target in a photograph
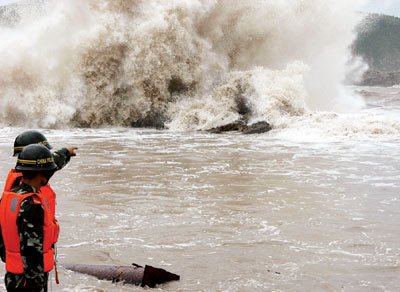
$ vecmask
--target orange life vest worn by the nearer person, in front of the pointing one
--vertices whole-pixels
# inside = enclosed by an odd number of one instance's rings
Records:
[[[41,204],[44,210],[43,263],[44,272],[49,272],[54,267],[54,244],[58,239],[59,226],[46,203],[46,198],[40,193],[3,193],[0,203],[0,224],[6,249],[6,270],[14,274],[24,273],[17,217],[21,208],[21,203],[27,197],[32,197],[34,203]]]

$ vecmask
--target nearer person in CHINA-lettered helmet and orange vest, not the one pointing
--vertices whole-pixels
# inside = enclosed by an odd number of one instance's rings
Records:
[[[31,144],[18,155],[15,169],[21,172],[22,182],[4,191],[0,202],[6,288],[47,291],[59,226],[41,189],[58,168],[46,146]]]

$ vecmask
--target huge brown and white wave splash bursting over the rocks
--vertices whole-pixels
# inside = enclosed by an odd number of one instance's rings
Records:
[[[1,122],[204,130],[244,105],[283,128],[360,109],[342,86],[355,2],[19,2],[0,27]]]

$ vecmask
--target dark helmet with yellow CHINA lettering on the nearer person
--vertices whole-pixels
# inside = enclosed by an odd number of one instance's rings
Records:
[[[54,163],[49,149],[43,145],[31,144],[18,155],[15,169],[18,171],[56,171],[57,165]]]

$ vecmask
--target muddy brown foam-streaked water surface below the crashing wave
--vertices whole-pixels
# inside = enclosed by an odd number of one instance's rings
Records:
[[[398,117],[398,89],[364,94],[363,114]],[[4,178],[23,130],[0,130]],[[52,178],[61,265],[135,262],[180,274],[165,291],[400,289],[398,135],[44,132],[55,148],[79,147]],[[53,291],[142,289],[63,268],[60,278]]]

